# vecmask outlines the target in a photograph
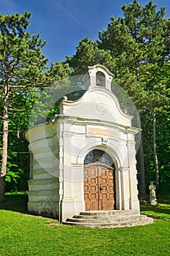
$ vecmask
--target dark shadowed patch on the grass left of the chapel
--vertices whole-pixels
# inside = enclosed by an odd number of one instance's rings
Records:
[[[0,202],[0,209],[26,213],[27,202],[28,195],[26,192],[7,193],[4,201]]]

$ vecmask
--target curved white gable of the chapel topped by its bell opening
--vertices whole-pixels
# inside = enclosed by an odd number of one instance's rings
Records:
[[[103,72],[100,84],[98,73]],[[89,67],[90,86],[88,91],[77,101],[63,100],[61,114],[77,118],[93,118],[109,121],[119,125],[131,127],[132,116],[124,113],[120,108],[117,97],[111,91],[112,76],[109,70],[102,65]],[[102,82],[103,81],[103,82]]]

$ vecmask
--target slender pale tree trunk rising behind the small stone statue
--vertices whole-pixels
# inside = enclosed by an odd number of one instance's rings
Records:
[[[154,154],[154,166],[155,166],[155,183],[158,189],[159,186],[159,168],[158,168],[158,156],[156,151],[156,114],[153,114],[153,154]]]

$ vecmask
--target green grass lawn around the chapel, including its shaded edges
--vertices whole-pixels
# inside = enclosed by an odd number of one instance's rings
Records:
[[[26,212],[26,200],[0,203],[0,255],[170,255],[170,204],[142,204],[142,213],[163,217],[138,227],[98,229],[59,224]]]

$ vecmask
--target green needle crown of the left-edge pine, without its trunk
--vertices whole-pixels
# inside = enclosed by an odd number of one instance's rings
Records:
[[[47,59],[41,49],[46,42],[40,39],[39,34],[31,36],[26,32],[29,18],[29,12],[23,15],[0,15],[1,91],[7,81],[12,92],[22,92],[28,86],[42,85],[42,79],[45,79],[42,71]]]

